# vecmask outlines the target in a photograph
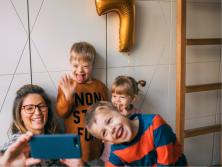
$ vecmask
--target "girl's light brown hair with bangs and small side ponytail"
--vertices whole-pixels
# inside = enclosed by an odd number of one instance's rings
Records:
[[[138,84],[144,87],[146,85],[146,81],[139,80],[137,82],[130,76],[118,76],[112,84],[111,92],[133,97],[139,93]]]

